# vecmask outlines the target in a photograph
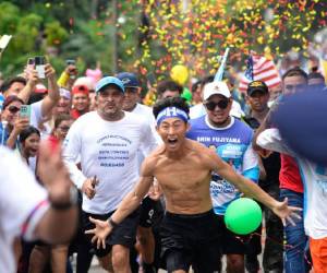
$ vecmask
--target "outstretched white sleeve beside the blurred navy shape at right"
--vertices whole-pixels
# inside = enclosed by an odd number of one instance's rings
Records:
[[[288,145],[281,139],[279,130],[276,128],[266,129],[265,131],[263,131],[257,136],[256,143],[259,146],[274,152],[296,156],[294,152],[290,147],[288,147]]]

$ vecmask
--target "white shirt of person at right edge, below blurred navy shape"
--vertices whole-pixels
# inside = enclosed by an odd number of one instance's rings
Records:
[[[304,185],[305,233],[314,239],[327,237],[327,166],[315,164],[295,154],[282,141],[278,129],[263,131],[257,138],[257,144],[296,158]]]

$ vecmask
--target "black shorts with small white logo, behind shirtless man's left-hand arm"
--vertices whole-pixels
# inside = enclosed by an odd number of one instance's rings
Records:
[[[160,200],[153,200],[149,197],[143,199],[140,212],[140,226],[152,227],[164,214],[164,207]]]

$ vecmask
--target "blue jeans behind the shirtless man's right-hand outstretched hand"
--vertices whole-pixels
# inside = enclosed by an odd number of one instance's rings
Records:
[[[288,198],[289,205],[303,209],[303,193],[292,190],[280,189],[280,198],[283,200]],[[310,265],[306,262],[306,245],[307,237],[304,233],[303,213],[301,212],[301,219],[293,218],[295,226],[287,223],[284,227],[284,236],[288,246],[284,253],[284,270],[286,273],[306,273],[310,271]]]

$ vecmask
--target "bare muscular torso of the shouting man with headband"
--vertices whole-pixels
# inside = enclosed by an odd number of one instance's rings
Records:
[[[169,158],[165,150],[155,154],[157,178],[166,197],[167,211],[178,214],[197,214],[213,207],[209,185],[211,171],[206,147],[186,140],[185,153]]]

